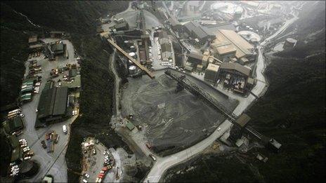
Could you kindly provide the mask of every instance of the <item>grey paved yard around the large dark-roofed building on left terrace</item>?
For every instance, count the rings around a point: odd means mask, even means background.
[[[58,41],[58,39],[46,39],[48,41]],[[39,87],[39,93],[34,93],[31,102],[22,105],[22,114],[25,114],[24,122],[25,128],[23,130],[22,135],[18,138],[25,138],[27,140],[28,146],[32,151],[34,151],[34,156],[32,156],[32,160],[37,161],[39,163],[40,168],[37,175],[28,179],[30,182],[39,182],[46,174],[51,174],[54,176],[56,182],[67,182],[67,165],[65,163],[65,151],[67,149],[67,142],[69,142],[70,136],[70,124],[77,118],[76,116],[72,116],[72,118],[67,119],[66,121],[60,123],[54,123],[46,128],[35,129],[34,124],[37,119],[37,106],[39,103],[39,97],[41,95],[41,91],[43,90],[45,83],[48,79],[50,79],[51,69],[56,67],[63,67],[68,63],[73,64],[77,63],[76,58],[74,58],[74,48],[72,43],[67,40],[63,40],[63,43],[67,45],[67,51],[70,55],[67,60],[63,56],[57,57],[54,61],[48,61],[44,59],[44,55],[41,53],[39,57],[32,57],[30,60],[37,60],[37,64],[41,65],[42,72],[41,75],[41,85]],[[27,76],[29,62],[26,62],[26,73]],[[55,81],[58,79],[62,79],[64,74],[60,74]],[[63,125],[67,125],[67,135],[63,134]],[[41,147],[41,141],[44,140],[46,132],[49,130],[54,130],[60,136],[58,140],[58,144],[55,144],[53,153],[47,153],[46,149]]]

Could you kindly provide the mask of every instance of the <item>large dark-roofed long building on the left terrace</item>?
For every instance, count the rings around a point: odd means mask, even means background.
[[[46,83],[41,93],[37,119],[40,122],[62,121],[67,114],[68,87],[53,87],[53,82]]]

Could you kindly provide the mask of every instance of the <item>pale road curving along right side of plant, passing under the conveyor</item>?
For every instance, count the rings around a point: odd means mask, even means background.
[[[263,76],[263,70],[265,69],[263,55],[261,53],[261,48],[271,39],[278,36],[278,34],[282,33],[289,25],[291,25],[294,21],[296,21],[298,18],[294,16],[291,20],[287,20],[285,22],[285,25],[283,25],[278,32],[275,32],[272,36],[268,37],[265,41],[263,41],[259,46],[259,57],[257,61],[257,67],[256,67],[256,76],[257,79],[260,81],[256,83],[256,86],[252,89],[252,92],[256,95],[261,95],[263,91],[266,88],[266,84],[264,83],[265,76]],[[263,81],[263,82],[261,82]],[[235,108],[233,113],[237,116],[242,114],[244,109],[246,109],[249,104],[251,104],[255,100],[255,97],[252,95],[249,95],[246,100],[240,101],[240,104]],[[215,130],[214,133],[209,135],[205,140],[202,140],[202,142],[199,142],[198,144],[195,144],[193,147],[189,147],[188,149],[185,149],[183,151],[180,151],[176,154],[172,154],[170,156],[165,156],[163,158],[157,157],[157,161],[153,165],[152,169],[148,173],[147,177],[145,178],[145,182],[159,182],[162,175],[164,175],[164,172],[166,172],[169,168],[173,167],[174,165],[177,165],[178,163],[182,163],[184,161],[187,161],[192,156],[195,156],[195,154],[199,154],[202,150],[209,147],[211,143],[213,143],[216,139],[221,137],[223,133],[226,133],[227,130],[230,129],[230,127],[233,126],[230,121],[226,120],[224,121],[219,128],[221,130]]]

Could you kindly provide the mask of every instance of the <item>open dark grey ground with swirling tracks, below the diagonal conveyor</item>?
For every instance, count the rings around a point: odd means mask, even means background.
[[[148,126],[146,137],[157,151],[188,147],[224,120],[200,98],[187,90],[175,93],[175,89],[176,81],[162,74],[152,80],[129,78],[123,91],[122,116],[133,114],[135,125]],[[237,104],[224,96],[223,102],[231,108]]]

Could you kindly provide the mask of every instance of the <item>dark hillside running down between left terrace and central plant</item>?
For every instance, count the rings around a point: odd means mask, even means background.
[[[81,171],[80,144],[84,137],[89,135],[96,136],[107,147],[124,147],[124,149],[129,150],[121,137],[109,127],[112,114],[112,90],[114,87],[114,79],[108,71],[109,55],[107,55],[104,50],[110,53],[111,49],[107,44],[103,44],[102,41],[100,41],[100,37],[96,35],[96,20],[107,14],[112,15],[124,11],[128,6],[128,2],[5,1],[4,5],[9,13],[12,8],[26,15],[34,24],[40,25],[45,31],[56,30],[70,33],[71,41],[77,49],[77,53],[84,58],[81,62],[82,87],[80,116],[72,125],[72,138],[66,154],[67,166],[69,169],[68,180],[69,182],[77,182],[79,176],[72,172]],[[1,12],[2,8],[3,6],[1,3]],[[7,23],[16,22],[15,20],[10,20]],[[17,27],[20,28],[20,32],[25,31],[25,27]],[[1,33],[2,28],[1,26]],[[12,32],[8,34],[14,38]],[[12,40],[8,40],[7,43],[11,43],[11,41]],[[2,43],[1,34],[1,54],[4,51],[2,49]],[[21,41],[17,43],[17,45],[13,45],[11,49],[14,51],[21,50],[22,48],[20,46],[26,43],[27,39],[25,39],[24,42]],[[22,58],[22,60],[26,60],[26,58],[27,57]],[[22,64],[22,62],[20,64]],[[1,68],[2,66],[1,64]],[[17,65],[15,65],[15,63],[8,62],[6,70],[13,71],[8,76],[15,75],[13,81],[21,81],[23,72],[15,72],[16,67]],[[4,82],[10,83],[10,80],[4,79]],[[1,83],[1,88],[2,86],[3,84]],[[20,83],[15,84],[15,88],[19,86]],[[18,95],[18,90],[13,90],[11,95]],[[108,136],[103,134],[108,134]],[[129,152],[131,153],[130,150]]]

